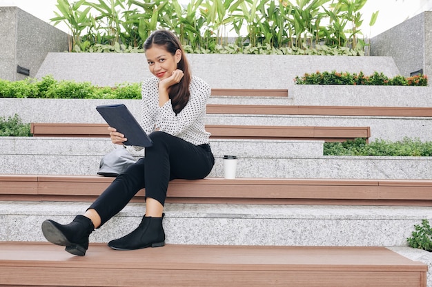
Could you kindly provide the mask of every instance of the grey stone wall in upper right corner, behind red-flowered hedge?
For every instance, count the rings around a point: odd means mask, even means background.
[[[432,74],[432,11],[426,11],[371,39],[371,56],[391,56],[402,76]]]

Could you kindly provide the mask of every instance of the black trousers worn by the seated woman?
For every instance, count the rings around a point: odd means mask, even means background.
[[[124,209],[140,189],[146,189],[146,198],[164,205],[170,180],[205,178],[215,164],[210,145],[193,145],[162,131],[149,136],[153,146],[146,148],[145,157],[117,176],[89,207],[99,213],[101,225]]]

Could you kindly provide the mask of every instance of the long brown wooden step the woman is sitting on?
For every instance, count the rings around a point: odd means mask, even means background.
[[[0,200],[92,201],[113,178],[0,175]],[[432,206],[432,180],[173,180],[166,202]],[[144,201],[145,190],[135,196]]]

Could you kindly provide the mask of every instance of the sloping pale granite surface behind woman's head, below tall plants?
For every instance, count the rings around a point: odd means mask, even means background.
[[[188,60],[193,74],[212,88],[286,89],[293,85],[295,76],[317,71],[373,74],[379,67],[387,76],[399,74],[391,57],[379,56],[188,54]],[[104,72],[95,73],[95,67]],[[59,80],[90,81],[101,86],[138,83],[150,76],[144,54],[115,53],[49,53],[36,77],[48,74]]]

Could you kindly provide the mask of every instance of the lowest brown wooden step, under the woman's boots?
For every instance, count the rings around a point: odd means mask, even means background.
[[[166,245],[84,257],[0,242],[0,286],[426,287],[427,266],[382,247]]]

